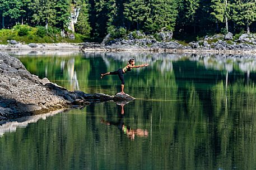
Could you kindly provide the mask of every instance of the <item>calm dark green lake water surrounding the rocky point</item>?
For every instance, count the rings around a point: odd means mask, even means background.
[[[41,79],[110,95],[120,91],[120,80],[100,80],[100,73],[132,57],[150,66],[124,75],[125,93],[136,98],[130,103],[92,103],[0,129],[0,169],[256,169],[254,56],[17,57]]]

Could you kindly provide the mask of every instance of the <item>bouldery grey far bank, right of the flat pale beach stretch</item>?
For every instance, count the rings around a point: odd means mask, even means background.
[[[141,37],[141,38],[135,38]],[[108,39],[108,36],[106,37]],[[243,34],[238,38],[232,33],[226,35],[214,35],[204,37],[203,40],[193,41],[188,44],[181,44],[179,41],[157,41],[152,36],[146,36],[137,32],[137,36],[132,34],[126,38],[114,40],[104,40],[103,43],[83,44],[81,50],[87,51],[151,51],[151,52],[185,52],[185,53],[214,53],[214,54],[255,54],[256,35]]]

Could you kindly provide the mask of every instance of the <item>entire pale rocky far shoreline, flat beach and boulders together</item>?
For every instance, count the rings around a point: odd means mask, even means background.
[[[160,36],[161,35],[161,36]],[[46,54],[47,51],[149,51],[149,52],[185,52],[185,53],[213,53],[213,54],[255,54],[256,34],[242,34],[234,37],[232,33],[226,35],[206,36],[203,40],[189,43],[171,40],[172,34],[162,32],[160,39],[147,36],[136,31],[124,38],[111,38],[107,35],[103,42],[85,43],[29,43],[22,44],[15,40],[7,45],[0,45],[0,51],[30,51],[31,54]],[[22,52],[19,52],[22,53]],[[24,52],[23,52],[24,53]],[[28,52],[25,52],[27,54]]]

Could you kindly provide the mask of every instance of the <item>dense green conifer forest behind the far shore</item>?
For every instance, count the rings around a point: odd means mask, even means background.
[[[0,0],[0,28],[38,27],[102,40],[165,28],[174,38],[255,31],[253,0]],[[42,28],[43,27],[43,28]],[[254,28],[254,29],[253,29]],[[40,35],[39,31],[39,35]],[[52,31],[54,32],[54,31]]]

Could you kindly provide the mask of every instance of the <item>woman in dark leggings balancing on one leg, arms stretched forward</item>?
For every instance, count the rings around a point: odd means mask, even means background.
[[[102,79],[104,76],[106,75],[118,75],[119,79],[121,80],[121,93],[124,93],[124,76],[123,74],[125,74],[126,72],[132,71],[133,68],[141,68],[141,67],[146,67],[148,66],[148,64],[142,64],[142,65],[135,65],[135,60],[134,59],[130,59],[128,62],[128,65],[125,66],[123,69],[118,69],[117,71],[113,71],[113,72],[106,72],[105,74],[101,74],[100,79]]]

